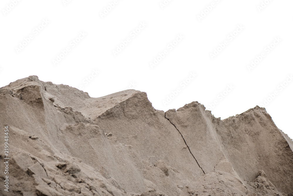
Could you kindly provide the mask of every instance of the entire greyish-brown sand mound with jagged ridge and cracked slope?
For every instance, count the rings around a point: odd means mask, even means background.
[[[293,193],[292,139],[258,106],[224,120],[198,102],[165,113],[144,92],[91,98],[30,76],[0,88],[0,110],[0,195]]]

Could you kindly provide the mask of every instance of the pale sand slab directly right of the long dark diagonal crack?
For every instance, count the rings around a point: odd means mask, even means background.
[[[166,118],[180,131],[203,172],[210,173],[226,157],[219,145],[212,121],[205,116],[204,110],[203,105],[192,102],[177,111],[168,110]]]

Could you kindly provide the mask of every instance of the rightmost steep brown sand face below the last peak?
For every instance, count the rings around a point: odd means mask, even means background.
[[[259,170],[284,192],[293,191],[293,152],[289,139],[264,108],[229,117],[218,126],[226,156],[239,176],[252,181]],[[291,140],[292,143],[292,140]]]

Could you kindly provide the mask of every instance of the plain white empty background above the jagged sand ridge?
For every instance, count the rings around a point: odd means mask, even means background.
[[[293,2],[162,3],[1,0],[0,86],[37,75],[91,97],[131,88],[147,92],[156,109],[198,101],[222,119],[259,105],[293,138],[293,82],[288,78],[293,73]],[[121,45],[125,41],[127,45]],[[114,55],[120,45],[123,49]],[[70,51],[62,55],[67,47]],[[160,58],[164,50],[167,54]],[[212,58],[215,50],[220,52]],[[248,69],[262,53],[258,64]],[[158,63],[151,66],[155,59]],[[197,76],[190,80],[190,73]],[[229,85],[232,90],[226,92]]]

